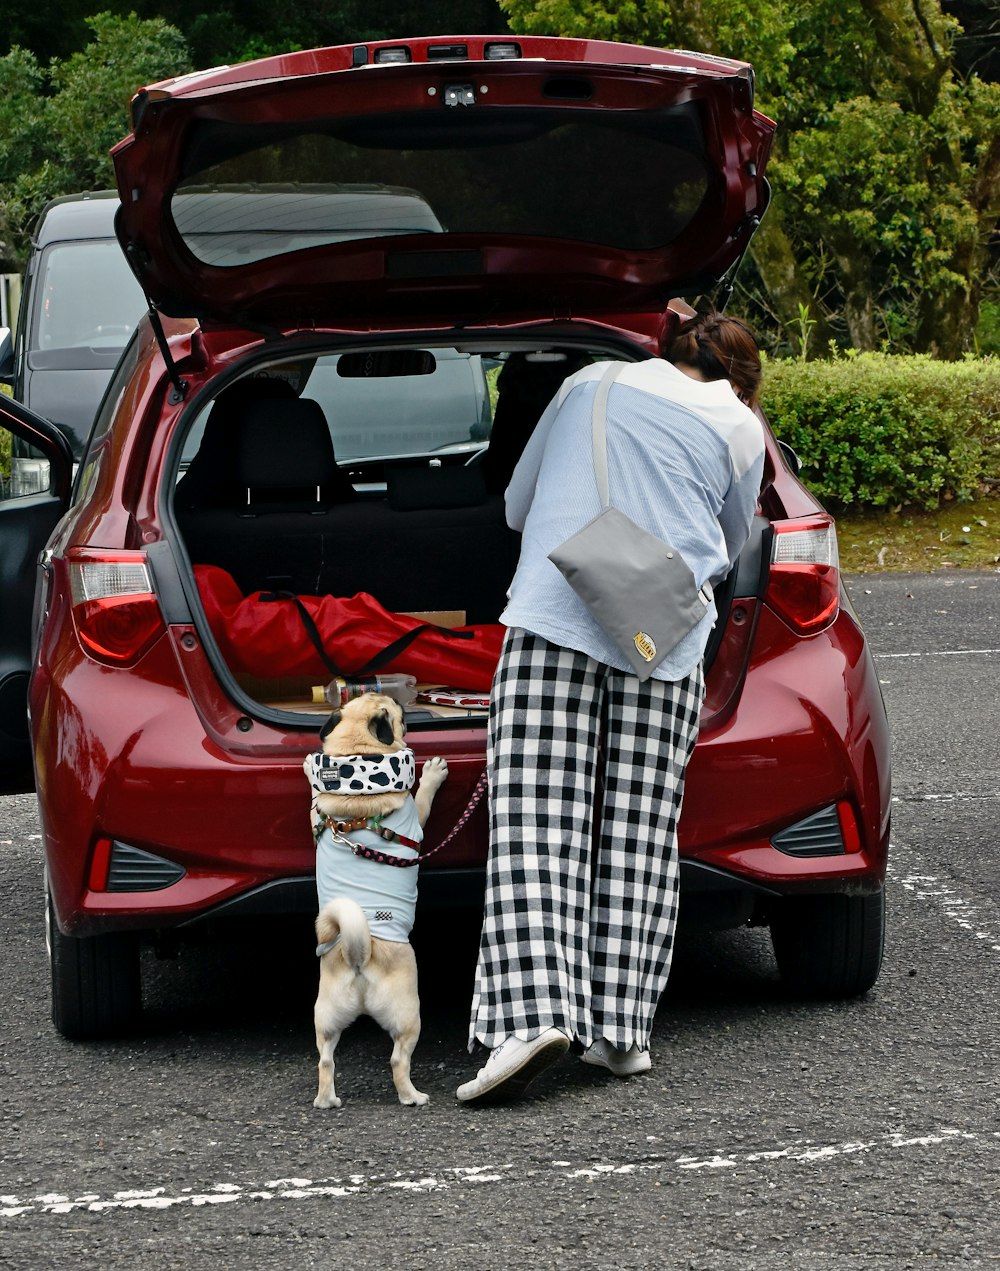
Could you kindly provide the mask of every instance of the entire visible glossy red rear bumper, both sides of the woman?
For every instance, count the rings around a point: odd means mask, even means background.
[[[53,587],[58,595],[58,577]],[[65,928],[86,934],[169,927],[282,881],[296,885],[273,897],[274,907],[311,907],[314,849],[301,761],[316,736],[244,713],[221,689],[192,625],[170,627],[133,674],[93,662],[66,604],[57,600],[52,611],[43,657],[60,675],[36,676],[32,714],[60,721],[58,730],[38,730],[36,760],[53,901]],[[715,666],[723,671],[719,660]],[[884,719],[853,718],[849,703],[877,693],[870,657],[846,613],[802,641],[762,608],[738,703],[724,722],[709,722],[691,761],[682,857],[778,891],[875,886],[884,874],[888,740]],[[428,825],[429,846],[465,811],[483,771],[483,741],[482,726],[412,732],[418,761],[441,754],[451,769]],[[797,859],[771,845],[778,831],[840,799],[867,815],[859,852]],[[93,890],[100,839],[174,862],[184,878],[158,891]],[[485,839],[480,802],[427,872],[482,867]]]

